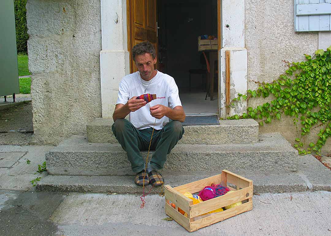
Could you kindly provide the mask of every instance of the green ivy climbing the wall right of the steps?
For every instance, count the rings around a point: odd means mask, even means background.
[[[319,153],[328,137],[331,136],[331,46],[324,52],[317,50],[314,57],[305,54],[307,60],[289,63],[286,74],[279,75],[271,83],[260,83],[257,90],[247,90],[252,98],[263,98],[273,95],[269,103],[263,103],[255,108],[248,107],[247,114],[239,118],[253,118],[262,120],[259,125],[271,123],[272,119],[280,119],[281,114],[293,117],[293,123],[301,130],[301,135],[310,133],[312,127],[321,124],[323,129],[318,134],[316,143],[305,144],[297,138],[296,148],[300,155],[310,151]],[[237,101],[247,100],[247,95],[238,94]],[[241,100],[241,98],[243,100]],[[299,116],[301,123],[299,123]],[[227,119],[237,119],[237,116]],[[299,127],[300,126],[300,127]]]

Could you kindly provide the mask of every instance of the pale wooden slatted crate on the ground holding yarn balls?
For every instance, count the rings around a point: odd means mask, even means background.
[[[222,186],[227,186],[230,188],[230,190],[234,190],[235,192],[230,192],[194,205],[193,200],[183,195],[185,192],[199,192],[205,186],[211,186],[212,184],[221,184]],[[229,185],[235,186],[236,189],[230,187]],[[183,226],[187,231],[193,232],[213,223],[223,221],[240,213],[252,210],[253,181],[236,175],[230,171],[222,170],[222,173],[219,175],[181,185],[175,188],[166,185],[165,197],[166,214],[181,226]],[[239,201],[243,201],[244,203],[242,205],[235,206],[213,215],[207,215],[202,219],[194,221],[194,218],[197,216],[201,216],[210,211],[214,211]],[[175,205],[175,208],[170,205],[171,203]],[[178,208],[186,212],[187,217],[179,213]]]

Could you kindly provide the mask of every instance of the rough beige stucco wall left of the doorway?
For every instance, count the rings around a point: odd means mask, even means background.
[[[100,0],[27,0],[34,143],[101,117]]]

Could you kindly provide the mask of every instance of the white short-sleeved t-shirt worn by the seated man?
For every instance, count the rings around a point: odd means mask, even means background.
[[[155,118],[151,115],[150,107],[161,104],[173,109],[176,106],[182,105],[175,80],[171,76],[159,71],[149,81],[143,80],[140,77],[139,71],[124,76],[119,83],[116,104],[125,105],[130,98],[145,94],[145,89],[146,93],[156,94],[157,99],[134,112],[130,112],[129,121],[138,130],[153,128]],[[154,129],[161,130],[168,122],[169,118],[166,116],[162,119],[156,119]]]

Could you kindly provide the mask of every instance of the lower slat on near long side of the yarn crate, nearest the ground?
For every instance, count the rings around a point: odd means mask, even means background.
[[[240,206],[236,206],[234,208],[230,208],[228,210],[216,213],[214,215],[202,218],[200,220],[197,221],[193,221],[190,223],[190,231],[189,232],[193,232],[196,231],[200,228],[203,228],[205,226],[209,226],[213,223],[219,222],[219,221],[223,221],[225,219],[228,219],[232,216],[236,216],[238,214],[241,214],[243,212],[247,212],[252,210],[253,208],[253,202],[246,202]]]

